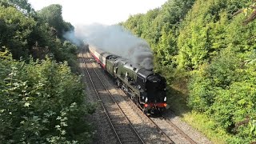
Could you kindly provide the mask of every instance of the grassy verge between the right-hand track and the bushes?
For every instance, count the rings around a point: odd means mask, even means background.
[[[226,134],[225,130],[218,128],[216,122],[208,118],[206,114],[199,114],[186,106],[186,99],[188,97],[186,83],[186,78],[178,78],[169,86],[170,90],[168,90],[167,99],[170,110],[173,110],[175,114],[182,118],[182,121],[187,122],[194,129],[205,134],[211,142],[218,144],[226,143],[226,139],[231,136]]]

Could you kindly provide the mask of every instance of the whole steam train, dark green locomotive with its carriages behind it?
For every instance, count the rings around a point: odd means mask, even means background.
[[[145,114],[166,109],[166,79],[152,70],[134,66],[126,58],[89,46],[90,54]]]

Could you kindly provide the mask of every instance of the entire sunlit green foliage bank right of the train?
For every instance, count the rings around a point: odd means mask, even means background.
[[[186,82],[187,106],[231,134],[230,143],[256,141],[255,5],[169,0],[121,23],[150,43],[155,70],[170,86]]]

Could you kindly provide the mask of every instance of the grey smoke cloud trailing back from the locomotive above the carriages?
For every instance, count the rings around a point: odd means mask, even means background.
[[[130,34],[122,26],[76,26],[75,35],[89,45],[129,59],[147,70],[153,69],[153,54],[142,38]]]

